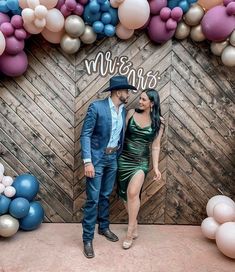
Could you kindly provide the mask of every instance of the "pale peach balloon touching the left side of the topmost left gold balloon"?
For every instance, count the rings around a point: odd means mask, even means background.
[[[52,32],[59,32],[64,27],[64,16],[58,9],[50,9],[46,15],[46,28]]]

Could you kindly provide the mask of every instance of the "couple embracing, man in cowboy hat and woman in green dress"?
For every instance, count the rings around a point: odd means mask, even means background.
[[[152,154],[154,179],[159,180],[160,140],[164,131],[160,99],[154,89],[144,90],[137,109],[126,113],[129,91],[136,88],[125,76],[114,76],[103,92],[110,96],[90,104],[82,132],[81,149],[86,176],[83,245],[87,258],[95,256],[92,241],[98,233],[111,242],[118,237],[109,228],[109,197],[117,180],[118,195],[128,213],[128,229],[122,247],[128,249],[137,238],[140,193]],[[150,152],[151,148],[151,152]]]

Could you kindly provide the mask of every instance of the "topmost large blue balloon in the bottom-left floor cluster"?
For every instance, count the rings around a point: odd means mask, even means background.
[[[37,178],[30,174],[22,174],[16,177],[12,186],[16,189],[16,197],[24,197],[31,201],[37,195],[39,182]]]

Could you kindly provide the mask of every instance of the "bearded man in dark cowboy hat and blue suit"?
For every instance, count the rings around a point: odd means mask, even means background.
[[[83,244],[87,258],[95,256],[92,240],[96,221],[98,233],[109,241],[118,237],[109,229],[109,197],[117,172],[117,157],[122,150],[125,134],[128,89],[136,88],[128,83],[125,76],[114,76],[109,87],[109,98],[97,100],[88,108],[82,132],[81,149],[84,162],[87,200],[84,206]]]

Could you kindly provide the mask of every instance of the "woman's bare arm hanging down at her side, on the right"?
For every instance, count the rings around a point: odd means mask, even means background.
[[[155,180],[161,179],[161,172],[158,169],[158,163],[159,163],[159,155],[160,155],[160,143],[161,143],[161,138],[164,132],[164,119],[161,117],[161,126],[159,133],[157,137],[154,139],[152,143],[152,160],[153,160],[153,169],[155,172]]]

